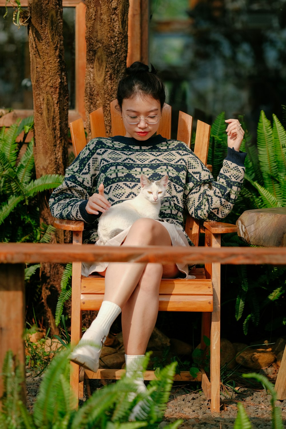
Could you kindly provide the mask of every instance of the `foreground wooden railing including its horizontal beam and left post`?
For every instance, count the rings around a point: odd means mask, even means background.
[[[180,262],[188,264],[271,264],[286,265],[286,248],[249,247],[96,247],[72,244],[0,244],[0,369],[5,353],[12,349],[24,375],[24,268],[25,263],[68,262]],[[24,388],[24,387],[23,387]],[[0,378],[0,397],[2,396]]]

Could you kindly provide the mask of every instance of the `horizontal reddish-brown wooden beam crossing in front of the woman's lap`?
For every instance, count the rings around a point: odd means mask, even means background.
[[[221,264],[286,264],[286,248],[183,246],[95,246],[85,244],[0,243],[0,263],[39,262],[154,262],[221,263]]]

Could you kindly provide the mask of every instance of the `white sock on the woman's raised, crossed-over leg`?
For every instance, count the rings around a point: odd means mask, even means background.
[[[88,330],[95,332],[99,330],[103,335],[107,336],[112,323],[120,313],[121,308],[119,305],[111,301],[102,301],[99,312]]]

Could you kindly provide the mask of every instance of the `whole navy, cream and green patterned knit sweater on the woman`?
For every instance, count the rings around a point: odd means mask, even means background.
[[[98,193],[100,183],[112,205],[138,194],[141,173],[151,180],[168,174],[160,218],[183,229],[186,208],[196,219],[220,221],[238,197],[245,156],[228,148],[214,181],[211,172],[183,142],[160,135],[144,142],[123,136],[92,139],[66,169],[63,184],[51,194],[51,213],[55,218],[84,221],[84,242],[93,243],[100,213],[90,215],[85,207],[88,198]]]

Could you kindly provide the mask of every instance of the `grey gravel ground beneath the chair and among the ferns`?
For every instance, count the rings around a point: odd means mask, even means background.
[[[33,377],[32,374],[28,374],[26,378],[27,407],[30,411],[33,410],[40,382],[41,377]],[[91,390],[102,387],[99,380],[94,380],[92,383],[94,385],[90,386]],[[190,384],[176,382],[172,387],[165,417],[159,428],[164,428],[168,422],[178,419],[184,420],[179,428],[231,428],[237,415],[237,403],[242,402],[254,429],[271,429],[271,396],[260,387],[237,389],[239,393],[233,393],[230,398],[221,395],[221,411],[211,413],[210,401],[205,398],[202,391],[193,391]],[[281,408],[283,424],[286,428],[286,400],[277,401],[275,405]]]

